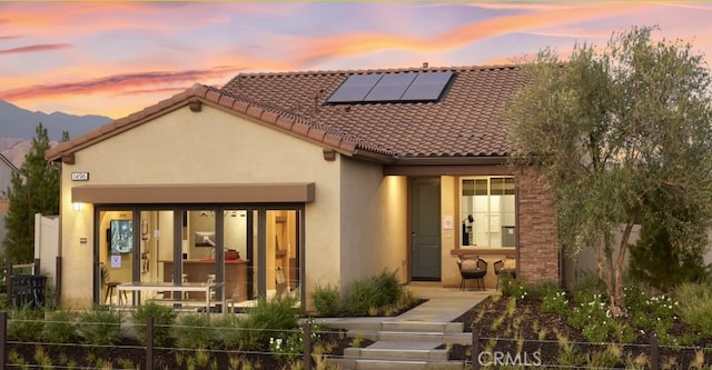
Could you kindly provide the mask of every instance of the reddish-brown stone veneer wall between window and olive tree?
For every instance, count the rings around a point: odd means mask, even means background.
[[[518,189],[518,274],[527,282],[560,281],[556,216],[552,197],[533,169],[516,177]]]

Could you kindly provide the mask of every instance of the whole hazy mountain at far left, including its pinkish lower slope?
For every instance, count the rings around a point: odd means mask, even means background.
[[[32,112],[0,100],[0,153],[20,168],[40,122],[47,129],[52,144],[56,144],[61,140],[62,131],[69,132],[69,138],[73,139],[111,121],[111,118],[103,116]]]

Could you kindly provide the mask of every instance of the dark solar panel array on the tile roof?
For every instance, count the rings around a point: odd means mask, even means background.
[[[452,71],[352,74],[327,103],[437,101]]]

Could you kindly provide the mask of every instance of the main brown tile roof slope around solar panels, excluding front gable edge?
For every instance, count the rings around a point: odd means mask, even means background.
[[[326,104],[354,73],[453,71],[438,102]],[[498,122],[503,103],[521,87],[515,66],[364,71],[245,73],[222,90],[319,122],[373,148],[405,157],[506,156],[506,132]]]

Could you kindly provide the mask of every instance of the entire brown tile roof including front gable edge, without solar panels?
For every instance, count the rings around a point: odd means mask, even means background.
[[[453,71],[437,102],[327,104],[332,92],[354,73]],[[515,66],[359,71],[243,73],[221,89],[195,84],[47,151],[51,160],[200,101],[257,119],[266,126],[349,156],[396,158],[504,157],[506,132],[497,119],[503,103],[522,84]]]

